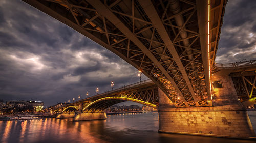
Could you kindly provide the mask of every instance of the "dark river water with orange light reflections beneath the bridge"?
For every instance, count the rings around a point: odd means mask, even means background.
[[[106,120],[37,119],[0,121],[0,142],[255,142],[229,138],[158,133],[158,113],[108,115]]]

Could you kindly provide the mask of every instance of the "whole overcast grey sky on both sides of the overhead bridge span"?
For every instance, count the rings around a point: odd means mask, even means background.
[[[256,59],[255,1],[229,1],[217,63]],[[0,1],[0,99],[46,106],[139,81],[137,70],[52,17],[19,0]],[[142,76],[142,80],[147,79]]]

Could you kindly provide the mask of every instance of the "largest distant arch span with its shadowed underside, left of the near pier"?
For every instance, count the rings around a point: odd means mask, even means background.
[[[83,108],[82,112],[103,112],[106,108],[115,105],[117,103],[125,102],[125,101],[133,101],[140,104],[144,104],[147,106],[151,106],[153,108],[157,108],[157,105],[152,104],[150,102],[129,98],[129,97],[104,97],[94,102],[91,102],[86,107]]]

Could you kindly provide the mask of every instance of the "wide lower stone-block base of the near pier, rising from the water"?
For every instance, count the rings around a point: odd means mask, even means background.
[[[255,136],[244,107],[159,109],[159,132],[248,138]]]

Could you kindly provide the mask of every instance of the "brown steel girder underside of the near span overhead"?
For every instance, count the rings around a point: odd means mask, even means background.
[[[142,70],[176,107],[209,105],[194,1],[182,0],[177,14],[168,11],[169,1],[152,1],[153,16],[137,0],[24,1]],[[182,26],[174,21],[179,15],[185,21]],[[188,33],[185,39],[180,36],[183,31]]]

